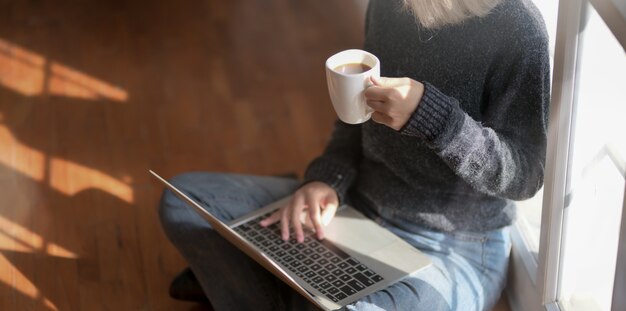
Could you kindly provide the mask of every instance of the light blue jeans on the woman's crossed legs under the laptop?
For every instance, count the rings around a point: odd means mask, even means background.
[[[288,178],[214,173],[187,173],[171,182],[223,221],[289,195],[300,185]],[[159,215],[165,233],[189,263],[215,310],[316,309],[221,238],[169,190],[163,192]],[[391,225],[373,218],[430,256],[433,265],[346,310],[490,310],[497,302],[511,248],[508,228],[444,233],[402,220],[393,220]]]

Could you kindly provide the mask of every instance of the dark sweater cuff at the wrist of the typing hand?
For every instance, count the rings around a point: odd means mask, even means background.
[[[321,181],[335,189],[339,204],[345,202],[345,196],[356,177],[356,171],[334,161],[317,158],[306,170],[303,184]]]

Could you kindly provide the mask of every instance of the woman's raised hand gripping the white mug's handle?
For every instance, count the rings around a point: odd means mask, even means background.
[[[399,131],[409,121],[424,95],[424,85],[410,78],[375,78],[365,90],[367,105],[374,109],[372,120]]]

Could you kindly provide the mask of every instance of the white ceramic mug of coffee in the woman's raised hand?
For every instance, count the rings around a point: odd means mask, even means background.
[[[360,73],[341,73],[337,67],[345,64],[364,64],[371,67]],[[371,85],[370,77],[380,77],[380,61],[363,50],[341,51],[326,60],[328,93],[339,119],[358,124],[370,119],[374,110],[365,103],[363,91]]]

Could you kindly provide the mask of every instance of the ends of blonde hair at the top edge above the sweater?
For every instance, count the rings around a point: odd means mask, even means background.
[[[458,24],[468,18],[485,16],[501,0],[404,0],[418,24],[425,28],[439,28]]]

